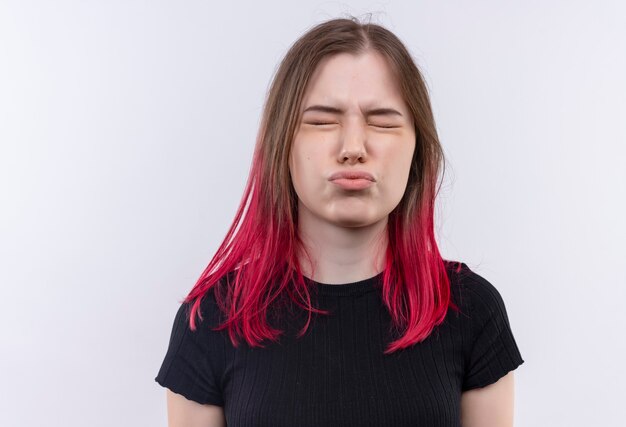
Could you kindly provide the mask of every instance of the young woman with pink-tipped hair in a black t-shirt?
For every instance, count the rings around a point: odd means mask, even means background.
[[[174,321],[155,379],[169,425],[512,426],[523,360],[498,291],[439,253],[442,162],[395,35],[335,19],[297,40]]]

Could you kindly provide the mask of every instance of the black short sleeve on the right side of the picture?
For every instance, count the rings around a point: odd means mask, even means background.
[[[502,296],[486,279],[471,272],[469,295],[472,340],[462,390],[485,387],[524,363],[513,337]]]

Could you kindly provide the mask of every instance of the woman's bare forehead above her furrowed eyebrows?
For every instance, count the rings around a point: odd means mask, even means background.
[[[397,107],[404,104],[393,69],[376,51],[358,55],[339,53],[324,58],[311,75],[303,109],[311,102],[393,102]]]

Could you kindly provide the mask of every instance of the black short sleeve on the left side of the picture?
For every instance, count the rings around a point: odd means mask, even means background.
[[[196,316],[196,330],[191,330],[191,306],[191,302],[180,305],[165,359],[154,380],[189,400],[224,406],[221,390],[224,348],[219,334],[209,329],[207,317],[210,316],[204,307],[201,308],[203,320]]]

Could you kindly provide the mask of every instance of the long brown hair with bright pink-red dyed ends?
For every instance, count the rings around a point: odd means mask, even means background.
[[[328,314],[311,305],[298,254],[308,252],[297,233],[297,195],[289,174],[291,144],[307,82],[319,62],[339,53],[381,53],[395,73],[416,133],[405,193],[389,214],[388,245],[382,275],[382,300],[399,338],[385,354],[427,338],[443,322],[451,302],[446,263],[434,235],[437,178],[444,160],[422,75],[402,42],[389,30],[356,18],[333,19],[314,26],[289,49],[275,72],[261,116],[250,174],[235,219],[184,302],[193,302],[190,327],[205,294],[213,289],[225,315],[214,330],[228,329],[238,346],[251,347],[284,332],[268,323],[272,308],[287,296],[311,314]],[[310,257],[309,257],[310,259]],[[458,263],[460,268],[460,263]]]

